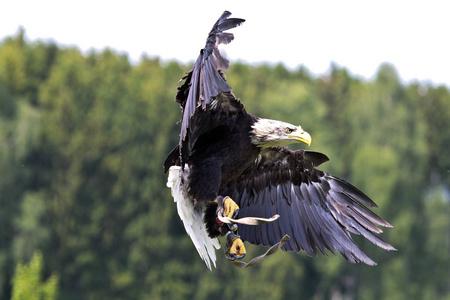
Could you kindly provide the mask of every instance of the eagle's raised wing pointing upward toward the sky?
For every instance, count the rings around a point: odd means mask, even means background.
[[[198,111],[206,111],[207,107],[217,107],[220,102],[227,102],[221,106],[240,107],[242,104],[231,93],[231,87],[225,80],[222,70],[227,70],[228,60],[219,51],[219,44],[228,44],[234,39],[234,35],[225,32],[231,28],[241,25],[245,20],[229,18],[230,12],[225,11],[214,24],[206,40],[206,46],[200,51],[191,71],[183,78],[185,83],[178,88],[175,100],[183,108],[183,119],[181,121],[179,151],[182,160],[189,155],[195,144],[196,137],[200,136],[207,128],[195,126],[199,122],[196,118]],[[217,100],[215,103],[212,103]],[[207,118],[203,118],[207,119]],[[202,127],[207,127],[203,126]],[[195,132],[199,130],[198,132]]]

